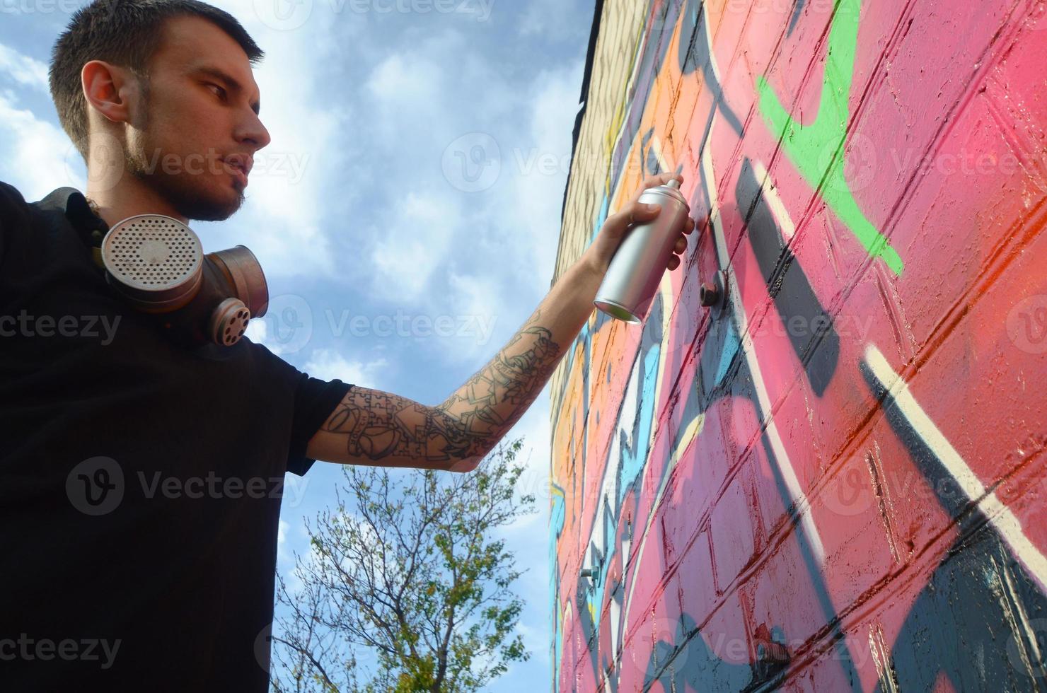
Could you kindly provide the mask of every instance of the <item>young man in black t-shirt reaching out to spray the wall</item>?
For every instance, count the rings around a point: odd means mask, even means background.
[[[261,57],[195,0],[94,2],[54,47],[52,96],[89,183],[31,204],[0,183],[4,690],[264,691],[285,472],[472,470],[588,318],[629,224],[658,214],[638,192],[437,406],[311,378],[249,339],[179,346],[106,283],[92,239],[135,215],[240,207],[269,143]]]

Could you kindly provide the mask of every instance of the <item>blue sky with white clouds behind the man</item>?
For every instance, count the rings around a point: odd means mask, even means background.
[[[73,0],[0,2],[0,180],[38,200],[84,189],[47,89]],[[593,0],[232,0],[266,51],[254,76],[272,142],[247,202],[193,224],[205,250],[258,255],[269,313],[249,334],[319,378],[437,404],[548,292]],[[549,393],[524,435],[540,512],[506,536],[530,662],[492,691],[550,683]],[[317,463],[284,499],[279,569],[303,517],[333,505]]]

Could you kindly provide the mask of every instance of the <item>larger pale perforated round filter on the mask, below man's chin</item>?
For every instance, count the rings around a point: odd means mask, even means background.
[[[185,224],[162,215],[129,217],[102,241],[102,261],[116,288],[141,310],[184,306],[200,286],[203,250]]]

